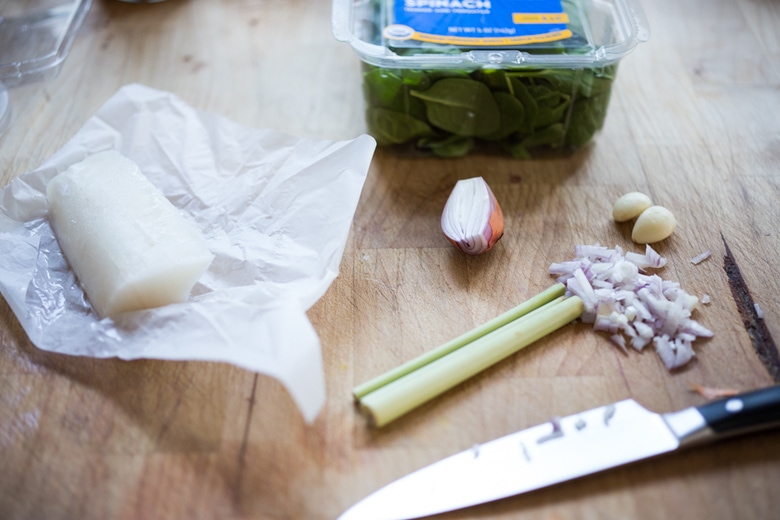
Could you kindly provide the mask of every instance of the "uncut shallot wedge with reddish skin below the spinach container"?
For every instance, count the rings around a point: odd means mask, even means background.
[[[504,215],[482,177],[458,181],[441,214],[447,239],[469,255],[489,251],[504,234]]]

